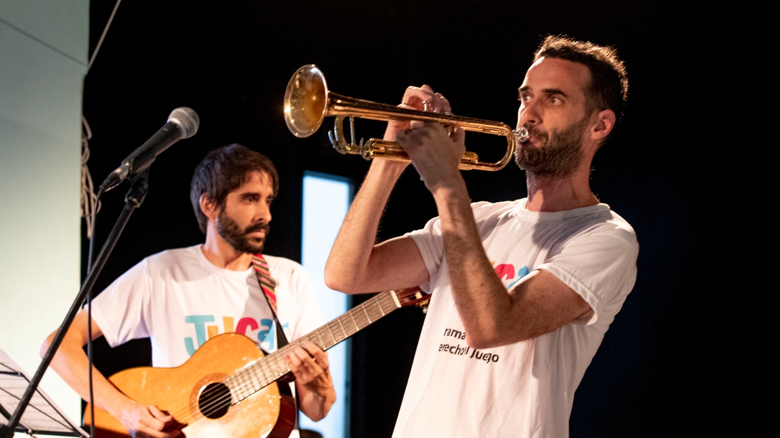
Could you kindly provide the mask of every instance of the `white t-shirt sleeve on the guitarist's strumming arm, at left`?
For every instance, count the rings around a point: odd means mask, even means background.
[[[149,337],[143,312],[150,291],[147,270],[147,260],[142,260],[92,300],[92,319],[112,347]]]

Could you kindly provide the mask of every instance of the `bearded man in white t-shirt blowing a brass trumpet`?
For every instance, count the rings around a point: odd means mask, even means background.
[[[389,122],[434,197],[424,228],[374,244],[407,162],[376,158],[325,268],[349,294],[431,292],[395,437],[569,435],[574,392],[636,281],[633,228],[590,190],[628,81],[612,48],[547,37],[519,87],[527,197],[472,203],[463,130]],[[450,111],[427,85],[402,108]],[[497,275],[498,274],[498,275]]]

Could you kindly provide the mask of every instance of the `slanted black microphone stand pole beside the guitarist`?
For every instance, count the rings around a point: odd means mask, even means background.
[[[27,387],[27,390],[25,390],[22,398],[19,401],[19,404],[16,406],[16,411],[13,413],[13,415],[11,415],[11,418],[9,419],[9,422],[6,426],[0,426],[0,438],[13,437],[16,426],[19,424],[22,418],[22,414],[27,408],[27,405],[30,404],[30,400],[32,399],[33,394],[37,389],[38,383],[41,383],[41,379],[43,378],[46,369],[51,363],[51,359],[54,358],[55,352],[57,351],[57,348],[59,348],[59,344],[62,343],[62,339],[65,337],[66,331],[68,331],[70,324],[73,323],[73,319],[76,317],[76,313],[79,313],[81,306],[83,306],[84,300],[92,291],[94,283],[97,280],[97,276],[100,275],[101,270],[103,270],[105,262],[108,260],[108,256],[111,254],[114,246],[116,245],[116,242],[119,240],[119,235],[122,234],[122,230],[124,230],[125,225],[129,221],[130,214],[133,214],[133,210],[140,207],[141,203],[144,203],[144,198],[146,198],[147,192],[149,190],[148,175],[149,169],[147,168],[133,178],[130,178],[133,185],[125,195],[125,208],[122,210],[122,213],[119,214],[111,234],[108,235],[108,238],[106,238],[106,241],[103,244],[101,252],[97,254],[97,259],[95,260],[92,269],[87,273],[87,278],[84,280],[81,286],[79,295],[76,297],[76,300],[70,307],[65,320],[62,321],[62,325],[58,328],[57,334],[55,334],[54,339],[51,341],[51,345],[49,345],[49,348],[46,351],[43,360],[41,361],[41,365],[38,366],[37,371],[30,380],[30,385]],[[95,236],[93,235],[93,238],[94,237]]]

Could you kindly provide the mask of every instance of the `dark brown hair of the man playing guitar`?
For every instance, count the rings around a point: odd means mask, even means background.
[[[208,222],[206,215],[200,210],[200,196],[205,194],[214,200],[220,209],[225,208],[228,193],[243,185],[253,171],[261,171],[271,177],[276,196],[279,190],[279,175],[271,160],[257,151],[239,143],[232,143],[212,150],[200,161],[190,183],[190,201],[200,231],[206,234]]]

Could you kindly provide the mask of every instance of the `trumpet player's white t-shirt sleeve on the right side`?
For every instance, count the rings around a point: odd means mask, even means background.
[[[632,231],[602,224],[577,235],[536,269],[566,283],[593,309],[580,323],[611,319],[636,282],[639,245]]]

